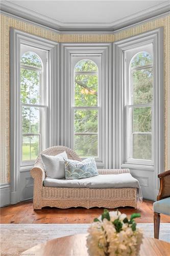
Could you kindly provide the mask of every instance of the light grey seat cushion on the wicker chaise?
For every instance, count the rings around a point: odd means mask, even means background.
[[[87,188],[139,188],[139,182],[130,173],[116,175],[98,175],[95,177],[75,180],[45,178],[46,187],[87,187]]]

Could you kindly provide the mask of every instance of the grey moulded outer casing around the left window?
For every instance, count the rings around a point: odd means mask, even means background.
[[[17,29],[10,28],[10,203],[20,201],[20,176],[30,177],[33,162],[21,165],[21,112],[20,112],[20,45],[27,45],[35,49],[48,51],[48,94],[46,96],[48,111],[45,118],[44,147],[57,144],[58,134],[56,126],[59,120],[56,109],[59,102],[59,47],[58,43],[39,36],[35,36]],[[30,179],[30,178],[29,178]]]

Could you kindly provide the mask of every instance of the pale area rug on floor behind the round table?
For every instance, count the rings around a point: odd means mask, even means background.
[[[37,244],[72,234],[86,233],[90,224],[1,224],[0,255],[19,255]],[[153,223],[137,224],[145,237],[154,237]],[[160,224],[160,240],[170,242],[170,223]]]

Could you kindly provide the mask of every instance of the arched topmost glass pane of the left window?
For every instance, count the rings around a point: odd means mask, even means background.
[[[41,68],[40,58],[33,52],[26,52],[21,57],[21,64]]]

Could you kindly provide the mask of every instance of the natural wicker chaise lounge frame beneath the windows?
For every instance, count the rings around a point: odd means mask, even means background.
[[[81,161],[78,155],[65,146],[54,146],[47,148],[42,153],[55,156],[66,151],[69,159]],[[117,175],[130,173],[129,169],[98,169],[100,175]],[[119,206],[137,207],[137,188],[89,188],[89,187],[50,187],[44,186],[45,179],[44,165],[41,156],[36,159],[31,169],[31,176],[34,178],[34,209],[41,209],[44,206],[69,208],[82,206],[116,208]]]

